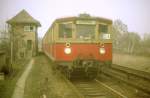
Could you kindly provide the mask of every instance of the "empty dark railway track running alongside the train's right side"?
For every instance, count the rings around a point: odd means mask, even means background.
[[[111,77],[111,80],[117,80],[133,87],[139,95],[138,98],[150,98],[150,73],[142,72],[127,67],[113,64],[112,66],[102,66],[99,78],[102,76]]]

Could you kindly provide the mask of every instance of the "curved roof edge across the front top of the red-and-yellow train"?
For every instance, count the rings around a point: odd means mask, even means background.
[[[73,21],[73,20],[96,20],[96,21],[101,21],[101,22],[112,24],[111,19],[107,19],[103,17],[93,17],[93,16],[90,16],[89,14],[80,14],[78,17],[73,16],[73,17],[58,18],[55,20],[55,22]]]

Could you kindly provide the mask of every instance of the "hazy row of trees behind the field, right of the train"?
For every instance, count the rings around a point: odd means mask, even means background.
[[[150,56],[150,33],[141,37],[137,32],[129,32],[121,20],[115,20],[112,34],[114,52]]]

